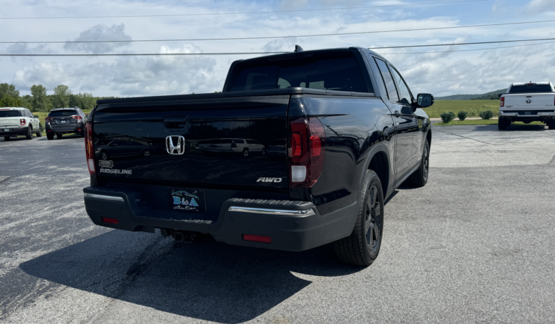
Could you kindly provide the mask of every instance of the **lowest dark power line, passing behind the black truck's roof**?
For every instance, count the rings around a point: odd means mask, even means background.
[[[533,40],[494,40],[490,42],[465,42],[465,43],[451,43],[451,44],[425,44],[425,45],[407,45],[407,46],[392,46],[392,47],[370,47],[369,49],[401,49],[410,47],[437,47],[437,46],[456,46],[456,45],[475,45],[475,44],[499,44],[507,42],[538,42],[540,40],[555,40],[555,38],[538,38]],[[547,43],[538,43],[547,44]],[[533,45],[533,44],[531,44]],[[526,46],[526,45],[518,45]],[[493,48],[506,48],[506,47],[493,47]],[[492,49],[493,49],[492,48]],[[474,50],[474,49],[473,49]],[[480,49],[476,49],[480,50]],[[469,49],[460,51],[470,51]],[[426,53],[447,53],[449,51],[437,52],[415,52],[410,54],[426,54]],[[256,52],[240,52],[240,53],[124,53],[124,54],[0,54],[0,56],[198,56],[198,55],[248,55],[248,54],[284,54],[291,53],[289,51],[256,51]],[[405,54],[405,53],[388,53],[388,54]],[[406,53],[409,54],[409,53]]]

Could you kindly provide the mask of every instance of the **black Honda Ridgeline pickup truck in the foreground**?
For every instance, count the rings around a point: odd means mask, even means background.
[[[86,127],[86,211],[177,241],[333,242],[339,259],[369,266],[385,199],[428,180],[421,108],[433,101],[359,47],[238,60],[222,93],[101,99]]]

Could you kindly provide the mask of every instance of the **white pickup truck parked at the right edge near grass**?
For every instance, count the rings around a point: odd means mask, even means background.
[[[511,122],[544,122],[555,129],[555,88],[551,82],[513,83],[501,95],[499,129]]]

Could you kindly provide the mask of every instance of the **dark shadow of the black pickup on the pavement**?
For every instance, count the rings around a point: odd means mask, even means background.
[[[363,269],[336,261],[330,245],[293,253],[211,239],[178,244],[120,231],[50,252],[20,268],[74,289],[218,323],[250,321],[312,283],[293,273],[334,277]],[[107,314],[118,311],[118,304],[113,307],[105,309]]]

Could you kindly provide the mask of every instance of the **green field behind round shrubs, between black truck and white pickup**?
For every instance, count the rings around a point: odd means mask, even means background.
[[[499,100],[436,100],[433,106],[424,108],[424,111],[430,118],[440,118],[442,113],[449,111],[455,115],[459,111],[466,111],[467,117],[480,117],[478,113],[481,111],[492,111],[493,115],[497,116],[499,115]]]

